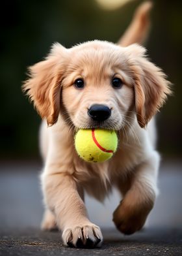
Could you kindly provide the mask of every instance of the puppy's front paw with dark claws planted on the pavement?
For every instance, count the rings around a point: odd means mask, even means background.
[[[62,232],[64,245],[76,248],[95,248],[101,246],[103,236],[96,225],[85,225],[65,229]]]

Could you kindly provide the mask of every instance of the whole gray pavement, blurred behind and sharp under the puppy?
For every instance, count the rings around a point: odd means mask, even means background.
[[[160,195],[143,231],[123,236],[112,224],[120,197],[104,204],[86,197],[90,219],[101,226],[100,249],[62,246],[59,232],[39,229],[43,213],[38,163],[0,163],[0,255],[182,255],[182,162],[164,161]]]

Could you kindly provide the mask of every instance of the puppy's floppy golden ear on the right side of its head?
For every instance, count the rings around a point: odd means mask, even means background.
[[[127,50],[134,78],[136,117],[140,127],[145,127],[172,93],[170,82],[164,72],[146,58],[142,46],[133,44]]]

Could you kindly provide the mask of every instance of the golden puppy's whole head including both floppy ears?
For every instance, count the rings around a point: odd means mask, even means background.
[[[62,114],[76,128],[120,130],[135,113],[144,127],[170,93],[164,73],[144,52],[136,44],[55,44],[45,61],[31,67],[23,89],[49,125]]]

